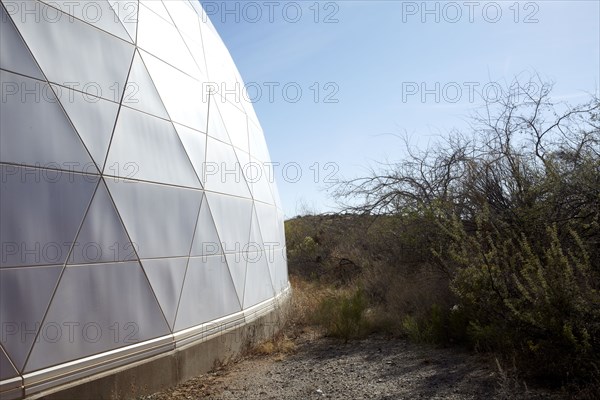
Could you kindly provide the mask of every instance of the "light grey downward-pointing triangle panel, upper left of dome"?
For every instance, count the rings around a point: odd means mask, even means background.
[[[61,86],[52,87],[83,143],[102,169],[119,104]]]

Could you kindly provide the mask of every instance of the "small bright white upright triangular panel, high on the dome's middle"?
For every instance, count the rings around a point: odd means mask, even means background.
[[[133,57],[131,72],[127,80],[123,105],[160,118],[169,118],[156,87],[154,87],[154,82],[137,51]]]

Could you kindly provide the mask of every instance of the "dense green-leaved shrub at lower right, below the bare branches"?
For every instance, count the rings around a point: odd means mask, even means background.
[[[457,264],[452,289],[467,310],[468,335],[485,350],[507,350],[545,377],[598,377],[600,280],[573,230],[557,226],[536,238],[485,229],[467,235],[455,219],[449,254]],[[570,240],[569,240],[570,239]]]

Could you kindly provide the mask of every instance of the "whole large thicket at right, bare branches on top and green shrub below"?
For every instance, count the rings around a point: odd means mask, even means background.
[[[361,277],[407,336],[466,340],[585,386],[600,379],[600,99],[572,107],[540,80],[509,87],[472,131],[407,141],[403,159],[336,195],[375,218],[376,272]]]

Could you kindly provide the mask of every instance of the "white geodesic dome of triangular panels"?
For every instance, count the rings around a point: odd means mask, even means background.
[[[252,105],[200,4],[0,7],[0,393],[200,340],[288,288]]]

